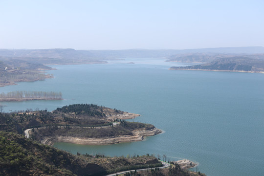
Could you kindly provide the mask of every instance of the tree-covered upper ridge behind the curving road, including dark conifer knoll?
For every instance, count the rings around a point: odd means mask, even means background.
[[[67,109],[68,107],[69,110]],[[75,109],[76,108],[76,109]],[[83,109],[84,108],[84,109]],[[75,113],[76,110],[76,113]],[[64,111],[64,112],[63,112]],[[102,127],[112,125],[105,113],[122,114],[123,111],[97,106],[94,104],[76,104],[47,110],[26,110],[10,113],[0,112],[0,131],[22,133],[23,129],[55,126]]]

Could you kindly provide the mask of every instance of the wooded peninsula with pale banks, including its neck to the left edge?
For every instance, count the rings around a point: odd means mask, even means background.
[[[49,145],[59,141],[93,145],[132,142],[161,132],[151,124],[124,120],[136,116],[139,114],[94,104],[74,104],[52,112],[26,111],[13,113],[12,116],[5,113],[1,128],[13,129],[14,132],[14,128],[10,128],[13,124],[19,133],[31,129],[26,132],[30,138]]]

